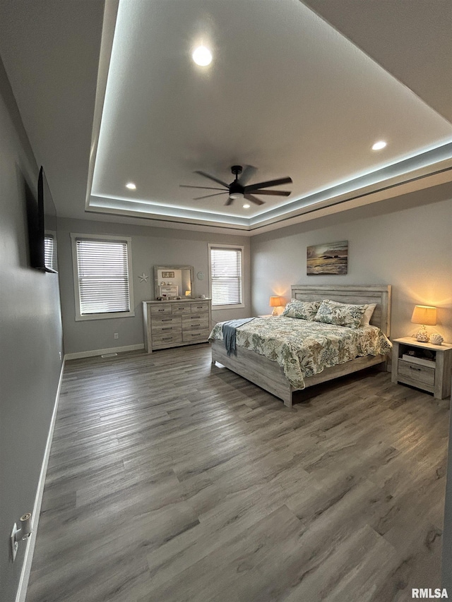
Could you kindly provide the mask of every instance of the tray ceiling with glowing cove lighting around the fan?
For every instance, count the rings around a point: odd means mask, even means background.
[[[252,234],[451,181],[451,6],[1,0],[0,54],[59,215]],[[244,209],[179,187],[232,164],[292,194]]]

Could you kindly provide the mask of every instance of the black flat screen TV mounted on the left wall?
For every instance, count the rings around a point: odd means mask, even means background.
[[[57,211],[44,169],[37,180],[37,215],[30,229],[30,263],[44,272],[57,272]]]

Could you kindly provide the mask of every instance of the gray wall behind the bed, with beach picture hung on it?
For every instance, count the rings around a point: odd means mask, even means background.
[[[254,314],[291,284],[392,284],[391,337],[417,329],[415,305],[438,308],[437,330],[452,342],[452,185],[314,219],[251,239]],[[348,273],[307,276],[307,246],[348,241]]]

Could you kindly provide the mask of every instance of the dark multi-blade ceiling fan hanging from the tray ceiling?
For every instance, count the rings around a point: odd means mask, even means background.
[[[251,179],[251,176],[256,172],[256,167],[246,167],[243,171],[242,165],[232,165],[231,167],[232,174],[234,174],[235,179],[230,184],[215,178],[215,176],[210,176],[206,174],[204,171],[194,171],[195,174],[199,174],[200,176],[204,176],[209,180],[213,180],[214,182],[221,184],[223,188],[213,188],[212,186],[188,186],[186,184],[179,184],[182,188],[203,188],[204,190],[212,190],[212,191],[221,191],[218,193],[208,194],[205,196],[198,196],[194,198],[194,200],[199,200],[201,198],[209,198],[211,196],[217,196],[220,194],[229,195],[225,205],[231,205],[234,203],[234,200],[240,198],[246,198],[246,200],[251,200],[251,203],[255,203],[256,205],[263,205],[263,200],[260,198],[256,198],[254,195],[258,194],[268,194],[274,196],[289,196],[291,193],[289,191],[268,191],[262,190],[262,188],[268,188],[269,186],[278,186],[279,184],[287,184],[292,183],[292,178],[280,178],[279,180],[269,180],[268,182],[259,182],[257,184],[249,184],[246,186],[246,182]],[[243,174],[242,174],[243,171]],[[239,175],[242,176],[239,178]],[[253,194],[250,194],[253,193]]]

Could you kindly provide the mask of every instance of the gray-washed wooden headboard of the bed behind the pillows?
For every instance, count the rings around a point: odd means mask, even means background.
[[[353,284],[292,284],[292,299],[298,301],[339,301],[340,303],[376,303],[370,320],[388,337],[391,332],[391,284],[354,286]]]

